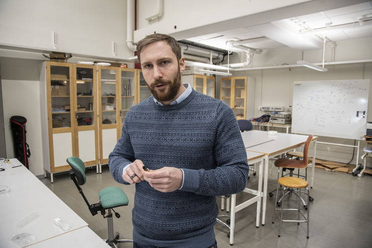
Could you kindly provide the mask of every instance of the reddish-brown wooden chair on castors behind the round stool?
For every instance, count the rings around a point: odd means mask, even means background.
[[[309,137],[307,138],[306,142],[305,142],[305,146],[304,146],[304,152],[303,152],[303,159],[302,160],[299,160],[299,159],[289,159],[289,158],[278,158],[276,159],[276,161],[274,162],[274,166],[279,168],[280,171],[278,172],[278,179],[279,179],[279,176],[281,175],[282,173],[282,177],[284,176],[287,176],[289,175],[290,177],[293,177],[293,171],[295,169],[298,169],[298,174],[296,176],[299,177],[303,177],[305,180],[307,180],[307,166],[308,166],[308,153],[309,153],[309,147],[310,147],[310,143],[311,143],[311,140],[313,139],[314,135],[309,135]],[[291,153],[290,153],[291,154]],[[297,154],[297,155],[301,155],[301,154],[298,154],[298,152],[293,152],[292,154]],[[287,174],[287,175],[283,175],[283,170],[285,169],[289,169],[290,170],[290,173]],[[302,176],[300,175],[300,169],[305,169],[305,176]],[[288,187],[287,187],[288,188]],[[278,188],[276,189],[276,191],[278,190]],[[275,190],[274,190],[275,191]],[[274,191],[271,191],[269,193],[269,196],[272,197],[273,196],[273,192]],[[298,194],[297,194],[297,190],[293,190],[293,189],[290,189],[288,192],[285,192],[285,194],[290,194],[290,193],[294,193],[296,194],[300,200],[302,201],[303,205],[304,205],[304,208],[307,209],[308,208],[308,204],[305,203],[304,199],[302,199]],[[276,195],[277,195],[277,192],[276,192]],[[275,199],[275,204],[280,207],[281,206],[281,202],[283,200],[283,197],[280,198],[278,201],[276,201],[277,199]],[[309,200],[312,202],[314,201],[314,198],[312,198],[311,196],[309,196]]]

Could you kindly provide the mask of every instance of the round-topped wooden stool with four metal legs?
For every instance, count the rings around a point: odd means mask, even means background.
[[[281,216],[280,216],[280,221],[281,222],[279,224],[279,234],[278,234],[278,237],[281,236],[282,222],[297,222],[297,224],[300,224],[300,222],[307,222],[307,238],[309,238],[309,211],[310,211],[310,209],[309,209],[309,189],[308,189],[309,183],[306,182],[305,180],[301,179],[301,178],[294,178],[294,177],[282,177],[282,178],[278,179],[278,181],[277,181],[277,188],[276,188],[275,202],[277,200],[277,190],[279,188],[279,184],[284,186],[283,197],[282,197],[282,200],[283,200],[283,202],[282,202],[282,208],[276,208],[276,205],[274,204],[274,212],[272,214],[272,223],[274,223],[274,216],[277,215],[276,210],[281,210]],[[286,192],[286,189],[287,188],[297,188],[297,189],[299,189],[299,206],[298,206],[298,209],[294,209],[294,208],[283,208],[283,206],[284,206],[284,196],[285,196],[285,192]],[[307,197],[308,198],[308,201],[307,201],[307,206],[308,206],[307,217],[300,210],[301,189],[302,188],[305,188],[307,190],[307,196],[308,196]],[[297,220],[283,219],[283,211],[284,210],[298,211]],[[305,220],[300,220],[300,214],[305,218]]]

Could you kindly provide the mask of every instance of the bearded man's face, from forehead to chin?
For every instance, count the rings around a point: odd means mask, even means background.
[[[146,84],[160,102],[172,102],[178,97],[184,59],[177,60],[165,41],[149,44],[141,51],[142,73]]]

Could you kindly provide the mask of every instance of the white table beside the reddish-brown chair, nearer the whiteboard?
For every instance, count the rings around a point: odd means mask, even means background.
[[[266,136],[266,137],[265,137]],[[290,133],[277,133],[276,135],[268,135],[266,131],[251,130],[242,133],[244,144],[256,142],[258,145],[250,146],[248,151],[254,151],[264,154],[264,180],[263,180],[263,201],[262,201],[262,225],[265,224],[266,214],[266,197],[267,197],[267,178],[268,178],[268,161],[270,158],[286,153],[303,145],[308,135],[290,134]],[[313,148],[313,165],[310,186],[313,187],[314,182],[314,169],[315,169],[315,150],[316,139],[314,137],[312,142]],[[266,141],[262,143],[262,140]]]

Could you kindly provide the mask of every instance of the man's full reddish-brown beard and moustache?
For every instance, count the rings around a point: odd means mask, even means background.
[[[181,73],[179,72],[179,66],[177,74],[174,75],[173,79],[171,81],[164,81],[162,79],[156,79],[154,84],[152,86],[148,86],[151,94],[154,96],[154,98],[160,102],[167,102],[172,100],[178,93],[179,87],[181,87]],[[169,89],[165,91],[158,91],[155,90],[155,86],[157,85],[169,85]]]

